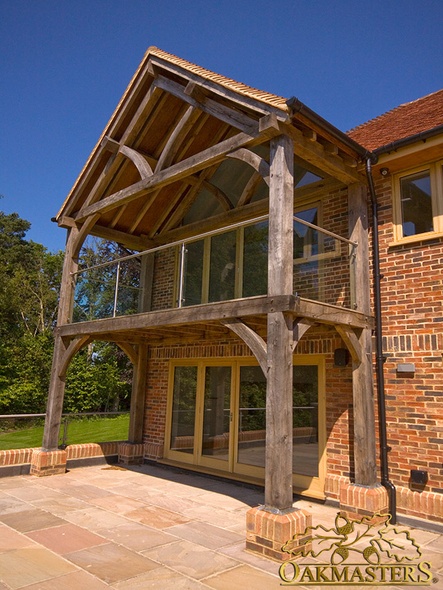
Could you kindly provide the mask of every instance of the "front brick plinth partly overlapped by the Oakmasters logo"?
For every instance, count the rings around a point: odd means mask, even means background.
[[[246,549],[277,561],[294,559],[294,555],[282,551],[282,546],[294,535],[303,534],[312,525],[312,516],[305,510],[291,510],[274,514],[263,506],[251,508],[246,513]],[[292,553],[297,546],[306,547],[311,533],[300,536],[297,545],[291,545]]]

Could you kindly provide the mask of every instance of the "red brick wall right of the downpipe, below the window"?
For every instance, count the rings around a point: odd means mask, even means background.
[[[391,478],[412,491],[443,491],[443,240],[393,246],[391,179],[380,205],[383,348]],[[415,372],[400,373],[399,364]],[[428,472],[427,485],[410,470]]]

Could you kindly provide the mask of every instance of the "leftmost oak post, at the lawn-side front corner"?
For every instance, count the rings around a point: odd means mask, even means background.
[[[66,240],[66,252],[63,262],[62,282],[60,286],[60,300],[57,315],[57,326],[67,324],[72,320],[74,305],[74,279],[72,273],[78,268],[74,258],[78,252],[78,229],[69,230]],[[65,375],[60,375],[63,366],[63,357],[67,345],[56,332],[54,340],[54,354],[52,357],[51,380],[49,384],[48,402],[46,406],[45,428],[43,432],[42,448],[44,451],[53,451],[58,448],[58,436],[63,412],[63,398],[65,394]]]

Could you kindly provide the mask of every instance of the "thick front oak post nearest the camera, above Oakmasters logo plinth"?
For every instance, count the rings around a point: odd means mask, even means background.
[[[271,140],[268,295],[293,291],[294,147],[287,136]],[[268,313],[265,507],[292,508],[292,320]]]

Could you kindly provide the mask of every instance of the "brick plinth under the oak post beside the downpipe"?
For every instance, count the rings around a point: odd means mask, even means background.
[[[389,499],[386,489],[348,484],[340,489],[340,512],[348,518],[361,518],[374,514],[386,514]]]

